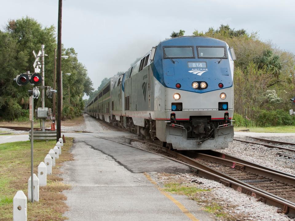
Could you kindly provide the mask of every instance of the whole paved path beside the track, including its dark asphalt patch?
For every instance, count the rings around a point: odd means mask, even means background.
[[[85,116],[86,128],[103,129]],[[89,125],[90,124],[90,125]],[[99,135],[128,142],[116,135],[124,131],[79,134],[74,139],[74,161],[62,167],[64,182],[73,188],[64,191],[70,221],[83,220],[214,220],[186,196],[161,192],[144,172],[189,172],[189,168],[165,157],[96,138]],[[90,133],[89,133],[90,134]],[[110,135],[114,134],[114,135]],[[154,172],[152,172],[154,173]],[[185,211],[185,212],[184,212]]]

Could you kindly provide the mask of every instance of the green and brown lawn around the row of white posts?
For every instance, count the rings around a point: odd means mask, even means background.
[[[47,186],[39,189],[39,202],[28,202],[28,221],[65,220],[62,214],[67,211],[61,192],[71,188],[63,184],[59,168],[62,162],[73,160],[69,152],[72,146],[72,138],[66,138],[62,154],[56,160],[56,166],[52,169],[52,175],[47,175]],[[34,173],[44,157],[53,148],[56,141],[34,141]],[[12,142],[0,144],[0,221],[12,220],[13,197],[18,190],[22,190],[26,196],[28,192],[28,179],[30,177],[30,141]]]

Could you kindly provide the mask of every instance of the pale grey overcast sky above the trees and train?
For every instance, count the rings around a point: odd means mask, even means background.
[[[58,0],[0,2],[2,29],[8,20],[25,16],[57,27]],[[258,31],[263,41],[295,53],[294,8],[292,0],[65,0],[62,43],[76,50],[96,89],[104,77],[126,71],[179,29],[191,35],[195,29],[228,24],[248,33]]]

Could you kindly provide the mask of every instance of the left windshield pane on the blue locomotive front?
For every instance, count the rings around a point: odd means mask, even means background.
[[[164,58],[194,58],[194,48],[191,46],[164,47]]]

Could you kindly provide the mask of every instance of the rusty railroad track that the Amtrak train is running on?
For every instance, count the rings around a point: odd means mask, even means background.
[[[142,149],[126,142],[117,141],[116,138],[111,139],[92,134],[87,135]],[[151,143],[150,141],[143,141],[115,134],[107,135],[147,143],[148,145],[169,153],[173,157],[167,157],[145,149],[142,150],[185,164],[202,177],[218,181],[249,196],[254,196],[258,201],[279,207],[280,209],[278,212],[285,213],[290,217],[295,217],[295,176],[292,174],[215,151],[208,151],[207,153],[183,151],[182,154],[169,150],[161,145]]]

